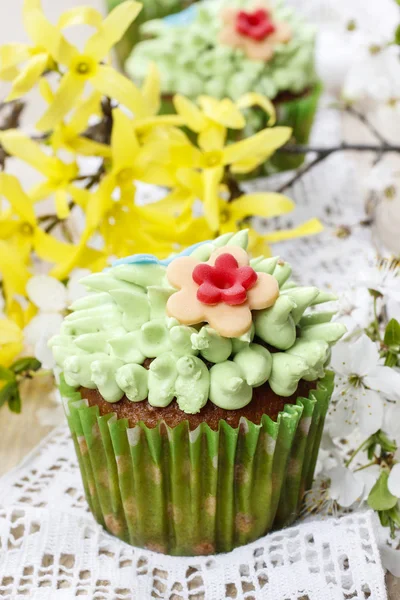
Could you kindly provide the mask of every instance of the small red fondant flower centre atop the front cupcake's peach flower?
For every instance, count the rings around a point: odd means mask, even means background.
[[[257,273],[251,267],[239,267],[231,254],[221,254],[215,266],[200,264],[193,270],[193,280],[200,286],[197,299],[203,304],[243,304],[247,290],[257,281]]]

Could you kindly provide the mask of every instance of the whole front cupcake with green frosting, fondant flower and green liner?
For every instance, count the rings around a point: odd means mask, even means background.
[[[88,504],[135,546],[230,551],[311,486],[344,327],[311,308],[331,294],[246,249],[240,231],[119,260],[50,342]]]

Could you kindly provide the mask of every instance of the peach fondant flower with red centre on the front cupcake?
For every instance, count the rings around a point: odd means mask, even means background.
[[[218,248],[206,263],[181,256],[168,265],[167,279],[179,290],[168,299],[169,316],[184,325],[209,323],[228,338],[246,333],[251,311],[272,306],[279,296],[276,279],[256,273],[237,246]]]

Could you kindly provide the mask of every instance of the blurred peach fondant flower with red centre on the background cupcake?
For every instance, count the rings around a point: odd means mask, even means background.
[[[240,48],[253,60],[271,60],[275,46],[286,44],[292,37],[289,25],[274,21],[266,4],[254,6],[252,11],[226,8],[221,16],[221,44]]]

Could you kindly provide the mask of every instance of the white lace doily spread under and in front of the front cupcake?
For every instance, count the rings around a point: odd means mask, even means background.
[[[5,600],[384,600],[372,512],[308,522],[229,554],[176,558],[105,533],[66,427],[0,480]]]

